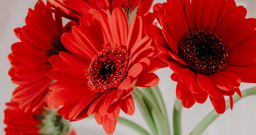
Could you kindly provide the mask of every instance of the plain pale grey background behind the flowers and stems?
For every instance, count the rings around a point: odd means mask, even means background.
[[[46,2],[46,0],[43,0]],[[256,18],[256,0],[235,0],[237,5],[247,8],[247,18]],[[17,87],[12,84],[7,72],[10,69],[10,63],[7,55],[11,53],[12,43],[19,40],[13,34],[16,27],[25,25],[25,17],[28,8],[33,8],[37,0],[0,0],[0,134],[4,135],[5,102],[11,99],[12,90]],[[155,0],[155,3],[166,2],[166,0]],[[152,8],[151,8],[152,11]],[[176,98],[176,83],[170,79],[172,71],[169,68],[160,69],[155,72],[159,78],[159,87],[162,91],[167,113],[172,125],[172,110]],[[255,84],[242,83],[240,89],[244,90],[256,86]],[[136,107],[136,105],[135,105]],[[182,112],[182,134],[188,135],[190,131],[203,119],[213,107],[208,100],[204,104],[195,104]],[[130,119],[141,125],[149,131],[138,108],[133,116],[128,116],[122,111],[120,116]],[[247,97],[234,105],[233,111],[228,109],[223,115],[216,119],[204,132],[203,135],[255,135],[256,134],[256,96]],[[105,135],[101,125],[98,125],[94,119],[83,119],[78,122],[72,122],[71,127],[76,130],[78,135]],[[171,127],[172,128],[172,127]],[[130,128],[117,123],[113,135],[139,135]]]

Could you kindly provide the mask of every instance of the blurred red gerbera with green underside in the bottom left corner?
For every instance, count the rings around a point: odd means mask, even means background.
[[[48,110],[43,104],[34,112],[24,112],[18,104],[15,101],[6,103],[6,135],[68,135],[69,123],[57,115],[57,111]],[[71,130],[69,135],[75,135],[75,131]]]

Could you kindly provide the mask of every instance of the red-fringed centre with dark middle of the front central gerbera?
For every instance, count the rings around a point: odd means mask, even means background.
[[[87,70],[88,86],[101,93],[117,88],[126,76],[128,60],[126,48],[106,47],[91,61]]]

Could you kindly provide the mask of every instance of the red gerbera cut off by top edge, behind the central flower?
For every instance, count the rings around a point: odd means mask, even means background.
[[[129,13],[144,14],[149,11],[153,0],[47,0],[47,5],[64,17],[79,22],[82,15],[88,14],[90,9],[105,9],[123,7]]]

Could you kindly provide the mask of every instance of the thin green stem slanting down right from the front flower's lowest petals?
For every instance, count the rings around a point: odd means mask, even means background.
[[[140,127],[140,125],[138,125],[138,124],[136,124],[132,121],[129,121],[128,119],[119,117],[117,119],[117,123],[122,124],[122,125],[126,125],[127,127],[133,129],[134,131],[137,131],[141,135],[150,135],[148,133],[148,131],[146,131],[144,128]]]

